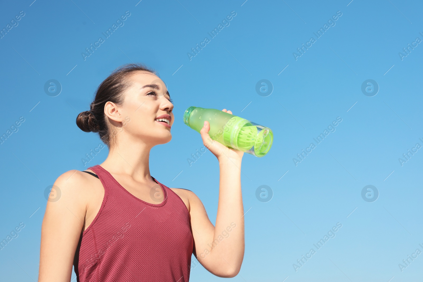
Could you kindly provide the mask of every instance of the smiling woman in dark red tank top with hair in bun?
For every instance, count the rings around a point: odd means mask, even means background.
[[[172,139],[174,122],[173,102],[154,70],[142,64],[116,69],[90,108],[77,125],[98,132],[109,155],[55,181],[60,198],[47,202],[38,281],[69,282],[74,265],[77,282],[187,282],[192,253],[212,274],[236,276],[244,257],[243,152],[211,140],[204,122],[203,144],[220,167],[213,226],[192,191],[168,188],[150,175],[150,150]],[[170,165],[158,161],[163,169]]]

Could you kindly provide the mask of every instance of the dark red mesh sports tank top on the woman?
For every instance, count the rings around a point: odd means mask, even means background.
[[[188,282],[193,239],[181,198],[151,176],[164,200],[147,203],[100,165],[89,169],[102,182],[104,198],[75,253],[77,282]]]

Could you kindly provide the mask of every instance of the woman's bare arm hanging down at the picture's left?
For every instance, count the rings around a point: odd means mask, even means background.
[[[86,212],[81,172],[70,170],[54,183],[60,198],[47,201],[41,227],[38,282],[69,282]],[[59,192],[56,192],[59,194]]]

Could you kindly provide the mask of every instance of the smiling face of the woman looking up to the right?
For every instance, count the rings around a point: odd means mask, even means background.
[[[148,71],[135,71],[129,77],[131,86],[125,92],[122,114],[126,138],[143,140],[149,145],[164,144],[172,139],[173,104],[165,83]],[[168,120],[158,121],[158,118]],[[129,120],[129,121],[128,121]]]

